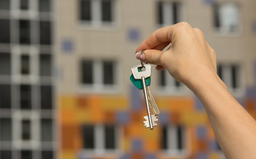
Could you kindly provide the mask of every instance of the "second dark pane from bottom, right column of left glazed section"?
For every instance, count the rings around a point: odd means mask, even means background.
[[[42,132],[41,140],[43,142],[52,141],[53,129],[52,129],[52,120],[51,119],[41,119],[41,132]]]

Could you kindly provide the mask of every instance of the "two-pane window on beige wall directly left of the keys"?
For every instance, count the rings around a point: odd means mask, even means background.
[[[81,63],[81,83],[95,88],[114,86],[117,83],[116,71],[114,61],[84,60]]]

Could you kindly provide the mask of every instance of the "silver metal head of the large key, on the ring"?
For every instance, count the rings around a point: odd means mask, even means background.
[[[144,76],[145,78],[148,78],[151,76],[152,65],[144,64],[144,67],[145,67],[145,71],[141,71],[141,72],[139,72],[138,69],[142,68],[142,65],[137,65],[131,68],[132,74],[135,79],[141,79],[142,76]]]

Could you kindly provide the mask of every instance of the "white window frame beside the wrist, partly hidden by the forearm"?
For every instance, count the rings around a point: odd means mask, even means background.
[[[236,97],[243,97],[245,95],[245,71],[239,64],[234,63],[220,63],[218,65],[222,66],[222,81],[227,85],[229,91],[231,94]],[[238,67],[237,73],[236,73],[236,81],[237,81],[237,87],[233,88],[232,85],[232,75],[231,75],[231,67],[236,65]]]

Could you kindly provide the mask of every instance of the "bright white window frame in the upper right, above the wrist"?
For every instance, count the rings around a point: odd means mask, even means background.
[[[240,7],[236,2],[221,2],[216,4],[218,6],[219,27],[214,26],[215,32],[218,35],[240,35],[242,26],[242,16]],[[216,11],[214,11],[216,13]],[[232,16],[232,14],[234,16]],[[214,15],[216,16],[216,15]],[[230,18],[233,17],[233,18]],[[231,24],[236,24],[234,30],[231,29]]]

